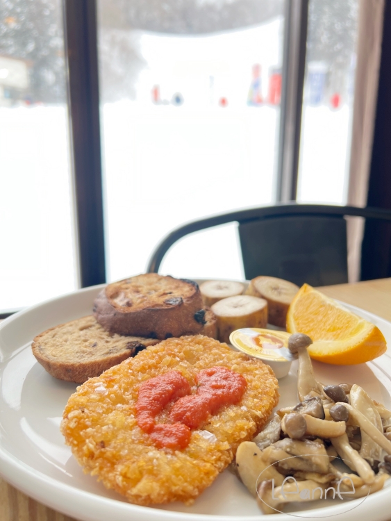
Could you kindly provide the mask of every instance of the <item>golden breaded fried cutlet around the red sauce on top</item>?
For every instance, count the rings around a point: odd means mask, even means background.
[[[226,367],[246,381],[240,402],[220,408],[191,431],[185,449],[158,449],[138,427],[142,383],[179,372],[197,392],[197,374]],[[278,402],[268,365],[205,336],[169,338],[78,387],[65,407],[61,431],[86,473],[139,505],[192,504],[231,463],[238,445],[262,429]],[[169,422],[169,410],[157,417]]]

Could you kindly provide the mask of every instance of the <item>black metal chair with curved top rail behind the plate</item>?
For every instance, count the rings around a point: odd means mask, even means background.
[[[345,283],[347,215],[391,223],[391,211],[381,208],[297,203],[215,215],[169,233],[153,252],[148,272],[158,272],[167,250],[184,235],[236,221],[246,279],[262,274],[299,286],[304,282],[312,286]]]

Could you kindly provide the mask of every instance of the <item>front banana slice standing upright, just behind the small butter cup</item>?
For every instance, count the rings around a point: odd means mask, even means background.
[[[229,342],[229,336],[235,329],[265,328],[267,324],[267,301],[250,295],[236,295],[219,300],[213,304],[212,311],[217,317],[220,342]]]

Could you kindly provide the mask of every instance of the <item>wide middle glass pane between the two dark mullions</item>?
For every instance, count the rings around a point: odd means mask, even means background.
[[[99,0],[108,279],[144,271],[183,222],[274,199],[283,6]]]

